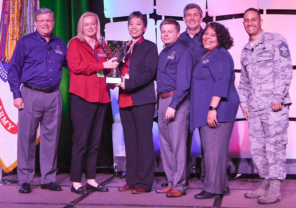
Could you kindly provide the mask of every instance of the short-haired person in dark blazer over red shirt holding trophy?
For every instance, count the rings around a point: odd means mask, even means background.
[[[156,44],[144,39],[146,29],[146,15],[131,13],[128,31],[135,44],[120,65],[123,81],[115,85],[120,87],[119,112],[126,150],[126,185],[118,191],[133,194],[151,191],[155,169],[152,126],[158,53]]]

